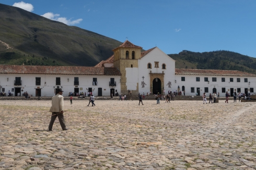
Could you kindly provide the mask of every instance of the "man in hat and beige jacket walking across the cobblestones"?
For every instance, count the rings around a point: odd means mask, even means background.
[[[56,119],[56,117],[59,118],[62,130],[67,130],[68,128],[65,125],[65,120],[64,120],[64,100],[63,100],[63,96],[62,96],[62,89],[61,88],[57,88],[56,89],[56,95],[52,97],[52,107],[50,109],[49,112],[52,112],[52,117],[51,117],[51,122],[49,124],[49,130],[52,131],[52,126],[53,123]]]

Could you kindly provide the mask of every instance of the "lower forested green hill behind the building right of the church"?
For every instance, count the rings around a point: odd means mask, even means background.
[[[176,60],[177,69],[240,70],[256,74],[256,58],[227,50],[204,53],[183,50],[168,56]]]

